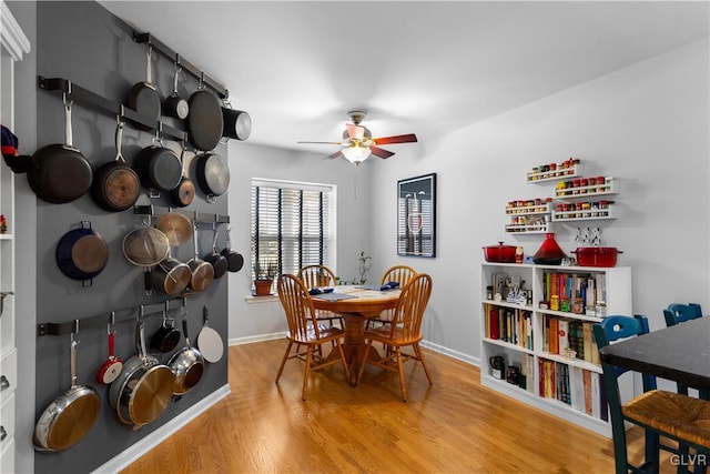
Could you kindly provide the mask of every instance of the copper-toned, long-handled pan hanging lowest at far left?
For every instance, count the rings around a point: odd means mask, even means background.
[[[90,385],[77,384],[77,345],[74,334],[79,331],[79,321],[74,322],[71,333],[71,387],[54,399],[34,427],[34,448],[37,451],[67,450],[83,438],[99,417],[101,397]]]

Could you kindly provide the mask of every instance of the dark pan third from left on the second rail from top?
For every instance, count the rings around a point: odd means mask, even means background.
[[[141,150],[135,158],[135,171],[145,188],[158,192],[175,189],[182,179],[180,158],[163,147],[158,131],[153,144]]]

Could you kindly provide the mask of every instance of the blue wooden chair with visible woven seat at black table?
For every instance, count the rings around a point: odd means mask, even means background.
[[[648,319],[642,315],[611,315],[600,323],[595,323],[592,327],[599,349],[613,341],[649,332]],[[641,374],[643,393],[622,404],[618,379],[629,370],[604,361],[601,369],[611,415],[617,474],[658,472],[659,450],[680,456],[682,446],[688,445],[710,456],[710,402],[657,390],[656,377]],[[640,465],[629,462],[625,422],[641,426],[646,432],[645,460]],[[660,436],[677,441],[681,448],[661,444]]]

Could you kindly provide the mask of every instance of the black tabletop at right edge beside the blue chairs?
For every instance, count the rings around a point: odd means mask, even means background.
[[[710,391],[710,316],[610,344],[602,361]]]

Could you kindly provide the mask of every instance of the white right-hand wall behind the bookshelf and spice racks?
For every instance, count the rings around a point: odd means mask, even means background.
[[[505,241],[539,248],[542,235],[504,232],[511,199],[551,196],[527,184],[534,165],[576,157],[586,175],[620,180],[621,216],[602,223],[608,246],[633,269],[633,310],[662,327],[661,309],[694,301],[710,309],[708,40],[625,68],[481,123],[423,143],[417,157],[375,163],[372,173],[373,272],[395,261],[426,271],[434,291],[425,340],[453,355],[479,356],[481,246]],[[397,259],[399,179],[437,172],[437,258]],[[564,250],[576,226],[560,228]],[[384,243],[384,245],[381,245]]]

